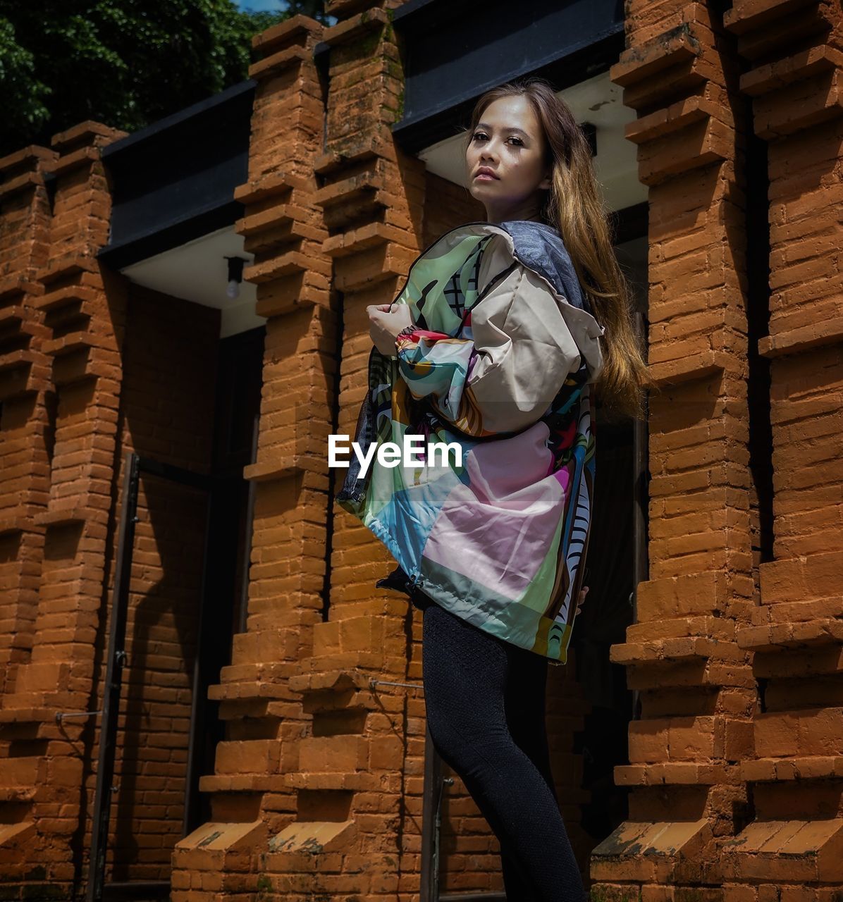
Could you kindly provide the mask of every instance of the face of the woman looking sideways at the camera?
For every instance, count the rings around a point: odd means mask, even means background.
[[[466,152],[468,190],[486,207],[489,222],[538,219],[542,194],[551,187],[544,164],[544,135],[533,105],[523,95],[499,97],[480,115]],[[496,178],[477,178],[486,167]]]

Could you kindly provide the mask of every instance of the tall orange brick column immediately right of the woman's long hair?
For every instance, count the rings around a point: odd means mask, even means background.
[[[755,679],[736,626],[755,602],[745,313],[746,126],[736,61],[706,5],[626,5],[611,69],[638,111],[649,187],[650,578],[611,657],[641,692],[630,723],[629,819],[592,854],[595,889],[671,898],[717,883],[718,842],[739,829],[739,762]],[[736,117],[737,116],[737,117]],[[689,890],[690,891],[690,890]],[[713,890],[710,899],[720,899]]]

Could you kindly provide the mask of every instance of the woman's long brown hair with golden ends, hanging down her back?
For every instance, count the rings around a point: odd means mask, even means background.
[[[551,189],[542,220],[559,230],[594,316],[601,338],[603,368],[595,389],[607,412],[644,419],[644,391],[654,387],[633,321],[631,291],[612,246],[612,228],[603,207],[591,161],[591,146],[570,106],[544,78],[517,78],[493,87],[477,100],[465,147],[483,111],[499,97],[525,96],[542,124],[546,162],[552,163]]]

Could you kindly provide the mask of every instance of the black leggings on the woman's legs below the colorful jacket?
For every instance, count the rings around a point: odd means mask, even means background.
[[[506,898],[583,902],[548,755],[548,659],[420,602],[431,739],[495,832]]]

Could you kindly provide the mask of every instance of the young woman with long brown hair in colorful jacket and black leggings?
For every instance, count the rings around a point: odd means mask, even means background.
[[[466,173],[486,221],[440,236],[391,305],[367,308],[375,347],[361,446],[440,437],[461,464],[349,469],[338,503],[399,566],[378,585],[423,613],[431,738],[500,842],[514,902],[580,902],[544,723],[586,588],[594,492],[591,390],[641,416],[650,385],[591,152],[541,78],[486,92]],[[422,589],[422,586],[424,588]]]

